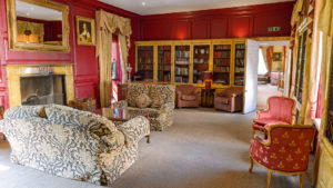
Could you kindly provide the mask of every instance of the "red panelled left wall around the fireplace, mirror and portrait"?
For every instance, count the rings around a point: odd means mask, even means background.
[[[133,33],[131,41],[139,37],[139,16],[122,9],[108,6],[95,0],[54,0],[70,8],[70,53],[11,51],[8,49],[6,0],[0,0],[0,106],[9,107],[8,86],[6,77],[7,65],[58,65],[72,63],[74,72],[75,97],[92,97],[99,99],[99,66],[95,58],[95,47],[78,46],[75,42],[75,16],[95,17],[95,10],[105,11],[131,19]],[[129,62],[134,66],[135,48],[132,43]]]

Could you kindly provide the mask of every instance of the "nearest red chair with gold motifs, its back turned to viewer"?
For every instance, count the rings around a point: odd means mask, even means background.
[[[300,175],[300,186],[307,168],[309,152],[314,137],[312,126],[273,125],[265,126],[268,139],[255,137],[251,140],[249,169],[252,172],[253,161],[268,170],[270,187],[272,172]]]

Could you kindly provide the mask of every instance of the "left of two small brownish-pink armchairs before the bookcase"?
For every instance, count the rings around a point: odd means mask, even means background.
[[[180,85],[175,87],[176,106],[182,107],[199,107],[198,89],[192,85]]]

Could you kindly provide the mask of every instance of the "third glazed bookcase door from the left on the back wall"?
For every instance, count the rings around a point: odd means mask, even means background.
[[[174,46],[174,82],[188,83],[190,76],[191,46]]]

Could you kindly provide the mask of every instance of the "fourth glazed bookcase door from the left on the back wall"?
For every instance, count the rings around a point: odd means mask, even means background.
[[[193,48],[193,83],[203,83],[202,73],[209,71],[210,66],[210,44],[194,44]]]

